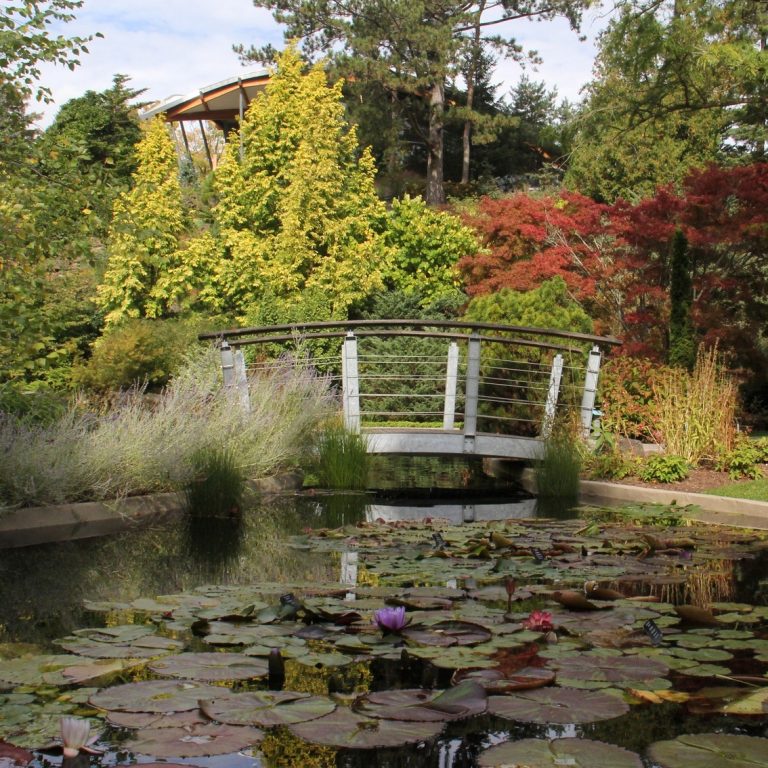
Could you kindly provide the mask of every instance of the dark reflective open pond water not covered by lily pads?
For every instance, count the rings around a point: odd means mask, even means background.
[[[0,551],[0,649],[3,643],[34,643],[60,652],[53,641],[94,626],[84,601],[127,604],[141,597],[186,592],[204,585],[338,583],[339,566],[326,555],[298,551],[289,537],[307,529],[337,528],[361,521],[445,518],[453,523],[491,519],[568,519],[563,505],[544,506],[525,494],[500,498],[477,494],[435,501],[399,494],[297,494],[262,500],[241,517],[188,519],[171,515],[131,526],[123,533]],[[423,679],[395,679],[387,663],[371,666],[376,688],[418,687]],[[405,675],[405,677],[404,677]],[[436,681],[437,682],[437,681]],[[442,681],[436,687],[444,687]],[[0,721],[2,713],[0,712]],[[680,733],[733,731],[725,718],[691,717],[675,705],[633,707],[620,718],[582,726],[544,726],[491,716],[449,724],[432,742],[400,749],[342,750],[328,762],[317,748],[287,737],[272,758],[258,752],[184,761],[203,768],[474,768],[478,754],[493,744],[523,738],[580,736],[642,752],[648,743]],[[737,725],[739,733],[765,735],[764,723]],[[283,737],[281,737],[283,738]],[[92,766],[143,762],[148,758],[108,751]],[[58,766],[38,758],[36,768]],[[652,766],[645,760],[644,765]]]

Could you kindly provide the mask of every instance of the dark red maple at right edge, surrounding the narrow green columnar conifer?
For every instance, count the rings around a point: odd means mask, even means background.
[[[767,200],[768,165],[756,163],[692,171],[680,190],[662,187],[636,206],[613,207],[613,227],[626,244],[623,261],[632,276],[623,310],[630,351],[658,355],[665,348],[652,329],[668,322],[668,243],[679,228],[692,258],[697,341],[719,340],[745,366],[755,365],[766,318],[760,296],[768,279],[761,267]]]

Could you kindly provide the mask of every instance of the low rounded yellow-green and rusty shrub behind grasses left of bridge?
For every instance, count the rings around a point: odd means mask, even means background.
[[[165,386],[182,367],[204,323],[199,320],[126,320],[93,344],[74,371],[77,384],[97,392]]]

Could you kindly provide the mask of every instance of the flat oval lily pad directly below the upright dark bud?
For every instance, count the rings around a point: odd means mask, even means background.
[[[201,701],[201,711],[211,720],[229,725],[293,725],[324,717],[336,709],[326,696],[293,691],[226,693]]]

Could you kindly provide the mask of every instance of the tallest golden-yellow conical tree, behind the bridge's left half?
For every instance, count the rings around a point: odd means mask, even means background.
[[[199,298],[242,316],[259,313],[263,296],[285,314],[325,296],[326,318],[343,318],[382,284],[385,211],[373,162],[345,124],[341,83],[328,86],[320,66],[304,74],[292,48],[277,67],[246,113],[243,162],[230,143],[216,171],[210,245],[223,252],[197,253],[214,270]],[[195,268],[179,254],[175,269]]]

